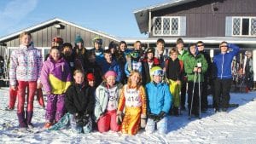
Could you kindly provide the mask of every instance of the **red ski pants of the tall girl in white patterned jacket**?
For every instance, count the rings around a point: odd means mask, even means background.
[[[28,89],[27,96],[26,96],[26,89]],[[26,111],[32,112],[33,111],[33,101],[34,95],[37,90],[37,82],[36,81],[18,81],[18,110],[17,112],[24,112],[24,105],[26,99]]]

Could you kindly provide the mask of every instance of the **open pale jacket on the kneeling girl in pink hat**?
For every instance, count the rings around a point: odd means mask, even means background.
[[[117,100],[116,106],[118,106],[120,89],[123,87],[123,85],[120,83],[117,83],[115,84],[115,87],[117,87],[118,100]],[[102,84],[100,84],[96,88],[95,95],[96,95],[96,103],[95,103],[94,115],[97,121],[100,118],[100,116],[106,112],[108,107],[108,88],[107,88],[106,82],[102,82]]]

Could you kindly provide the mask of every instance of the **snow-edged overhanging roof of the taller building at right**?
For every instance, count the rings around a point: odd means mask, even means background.
[[[181,4],[189,3],[189,2],[193,2],[193,1],[196,1],[196,0],[170,0],[166,3],[159,3],[156,5],[145,7],[143,9],[135,10],[133,13],[137,20],[137,26],[139,27],[140,32],[141,33],[148,32],[148,13],[149,13],[149,11],[153,12],[153,11],[157,11],[160,9],[166,9],[166,8],[174,7],[177,5],[181,5]]]

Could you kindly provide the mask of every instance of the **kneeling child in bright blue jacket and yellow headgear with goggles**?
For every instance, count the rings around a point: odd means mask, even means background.
[[[154,66],[150,69],[150,83],[146,84],[146,93],[148,95],[148,122],[146,132],[153,133],[156,129],[160,133],[167,133],[166,113],[169,112],[172,105],[172,95],[167,84],[162,83],[164,72],[160,66]],[[171,102],[170,102],[171,101]]]

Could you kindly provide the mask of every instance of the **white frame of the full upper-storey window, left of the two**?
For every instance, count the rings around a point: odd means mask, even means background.
[[[155,19],[161,19],[161,34],[155,34],[154,33],[154,26],[153,26],[153,36],[180,36],[180,32],[181,32],[181,17],[180,16],[155,16],[153,19],[153,25],[154,25],[154,21]],[[164,29],[164,22],[163,20],[169,18],[170,19],[170,34],[163,34]],[[177,28],[177,34],[172,34],[172,19],[178,19],[178,28]]]

